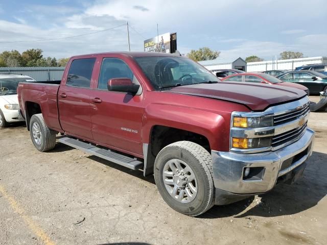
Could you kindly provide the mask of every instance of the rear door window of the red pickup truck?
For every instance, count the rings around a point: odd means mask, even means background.
[[[68,71],[67,85],[89,88],[96,58],[73,60]]]

